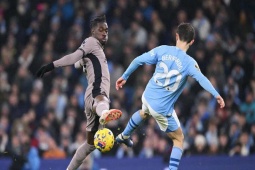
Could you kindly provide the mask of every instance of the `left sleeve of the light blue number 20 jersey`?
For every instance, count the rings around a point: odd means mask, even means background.
[[[128,77],[141,65],[144,64],[156,64],[158,61],[157,52],[159,47],[150,50],[149,52],[143,53],[142,55],[136,57],[128,66],[127,70],[121,76],[123,79],[127,80]]]

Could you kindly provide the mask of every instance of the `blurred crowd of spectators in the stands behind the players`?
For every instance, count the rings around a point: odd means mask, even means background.
[[[115,135],[141,108],[154,66],[140,67],[118,92],[115,81],[138,55],[158,45],[175,45],[176,27],[190,22],[196,39],[187,53],[226,107],[219,109],[209,93],[188,80],[175,105],[185,135],[184,160],[241,156],[238,163],[250,157],[255,153],[254,9],[253,0],[0,0],[0,165],[5,165],[0,169],[43,169],[44,161],[56,159],[68,164],[86,140],[87,80],[82,70],[59,68],[43,79],[35,73],[74,52],[90,34],[91,17],[101,13],[109,25],[105,54],[111,107],[124,113],[107,125]],[[167,167],[172,143],[154,119],[145,121],[132,138],[133,148],[115,145],[106,154],[94,151],[81,169],[99,169],[104,157],[112,162],[159,158]]]

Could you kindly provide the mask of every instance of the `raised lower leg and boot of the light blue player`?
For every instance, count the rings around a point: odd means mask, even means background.
[[[141,114],[144,115],[143,111],[135,112],[132,117],[129,119],[128,124],[124,131],[119,134],[115,141],[117,143],[124,143],[128,147],[133,146],[133,141],[131,140],[130,136],[132,132],[141,124],[141,122],[146,118],[146,116],[142,117]]]

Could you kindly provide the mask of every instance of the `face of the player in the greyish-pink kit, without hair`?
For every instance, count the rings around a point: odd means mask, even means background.
[[[92,32],[93,37],[99,40],[102,45],[105,45],[108,40],[108,25],[106,22],[100,22]]]

